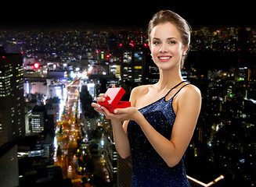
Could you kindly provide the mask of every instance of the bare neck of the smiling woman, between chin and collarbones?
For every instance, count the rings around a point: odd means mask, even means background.
[[[171,89],[173,86],[183,81],[182,73],[179,69],[159,69],[159,72],[160,78],[156,85],[161,90],[165,88]]]

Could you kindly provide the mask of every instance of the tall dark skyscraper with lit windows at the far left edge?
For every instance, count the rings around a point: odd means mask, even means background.
[[[24,135],[22,55],[0,47],[0,146]]]

